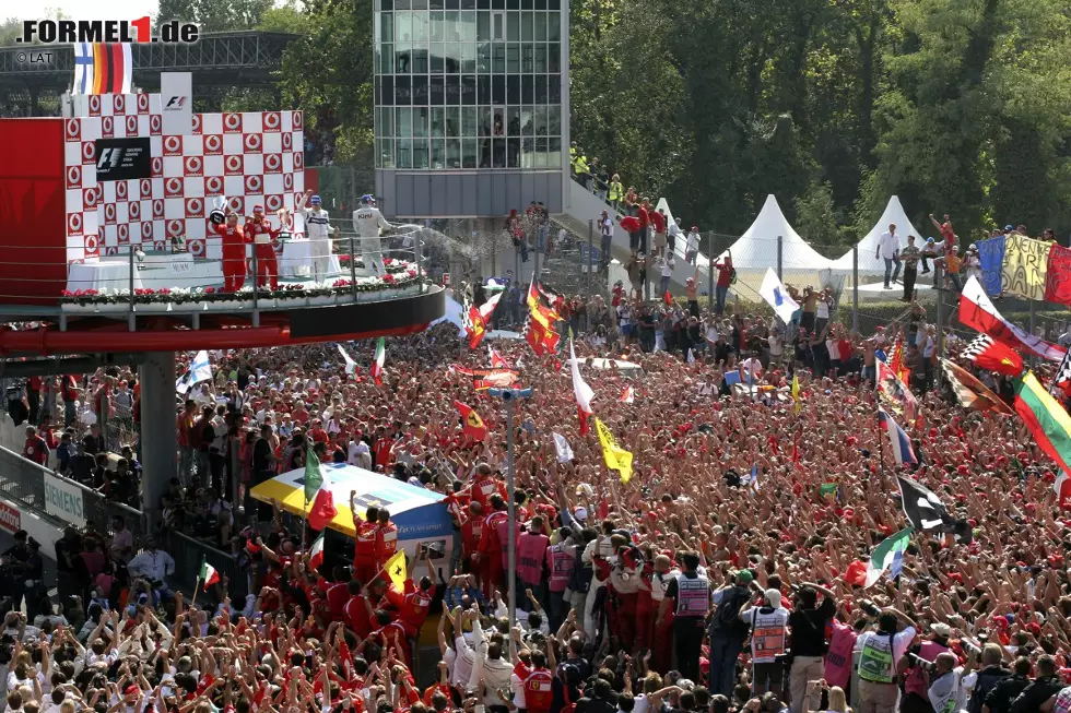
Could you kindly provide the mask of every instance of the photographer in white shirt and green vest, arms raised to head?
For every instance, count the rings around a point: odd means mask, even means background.
[[[897,625],[903,621],[903,631]],[[856,640],[859,652],[859,713],[892,713],[899,694],[895,662],[907,652],[918,625],[899,609],[886,608],[878,617],[878,631],[864,631]]]

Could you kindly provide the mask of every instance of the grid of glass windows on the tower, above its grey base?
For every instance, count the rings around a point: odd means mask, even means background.
[[[377,7],[377,166],[562,166],[560,0]]]

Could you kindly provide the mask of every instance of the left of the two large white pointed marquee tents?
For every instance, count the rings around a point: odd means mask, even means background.
[[[732,265],[738,271],[777,270],[777,236],[781,237],[781,269],[784,271],[815,272],[829,268],[832,261],[823,258],[800,237],[785,214],[777,199],[770,193],[751,227],[732,243]],[[727,251],[728,252],[728,251]],[[720,260],[726,253],[718,257]]]

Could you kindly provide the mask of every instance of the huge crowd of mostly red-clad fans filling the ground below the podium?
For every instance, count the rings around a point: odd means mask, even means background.
[[[697,305],[656,320],[623,293],[582,305],[574,344],[595,415],[633,454],[627,482],[604,467],[597,429],[580,433],[567,350],[493,344],[533,389],[515,413],[514,628],[506,424],[466,375],[487,367],[483,348],[450,324],[389,340],[381,384],[363,368],[348,375],[333,345],[215,353],[213,379],[178,400],[170,487],[143,503],[163,522],[160,540],[136,542],[121,521],[69,528],[46,552],[58,597],[35,584],[10,604],[8,710],[1068,709],[1071,520],[1054,464],[1017,417],[965,411],[916,361],[920,413],[903,426],[919,464],[898,466],[881,440],[873,359],[901,335],[908,356],[932,348],[921,307],[860,338],[820,312],[815,294],[789,336],[758,314]],[[567,333],[574,312],[563,316]],[[652,338],[659,348],[645,348]],[[370,345],[348,349],[370,364]],[[600,369],[597,356],[637,368]],[[58,421],[64,388],[78,387],[37,385],[34,438],[50,448],[40,414]],[[108,368],[79,385],[98,408],[130,390],[137,413],[133,372]],[[480,413],[485,438],[466,433],[455,401]],[[136,453],[121,454],[120,473],[85,445],[62,472],[137,499]],[[303,467],[309,449],[440,494],[450,555],[414,555],[395,583],[381,569],[397,545],[390,513],[356,509],[352,551],[332,548],[317,568],[315,533],[248,496]],[[972,537],[917,532],[897,579],[863,587],[858,563],[906,524],[898,474],[938,494]],[[169,585],[175,562],[156,544],[173,530],[234,554],[245,581],[215,582],[193,606],[192,591]],[[38,546],[23,535],[4,572],[38,582]],[[428,664],[419,641],[432,630]]]

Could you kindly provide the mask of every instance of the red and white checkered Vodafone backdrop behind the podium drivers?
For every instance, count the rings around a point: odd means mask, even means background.
[[[196,114],[193,133],[163,135],[158,94],[90,95],[84,116],[67,119],[67,259],[119,254],[120,246],[161,249],[186,236],[197,257],[219,260],[221,239],[208,229],[213,199],[242,215],[274,211],[305,190],[301,111]],[[96,182],[94,140],[149,136],[152,178]],[[294,230],[304,233],[301,217]]]

